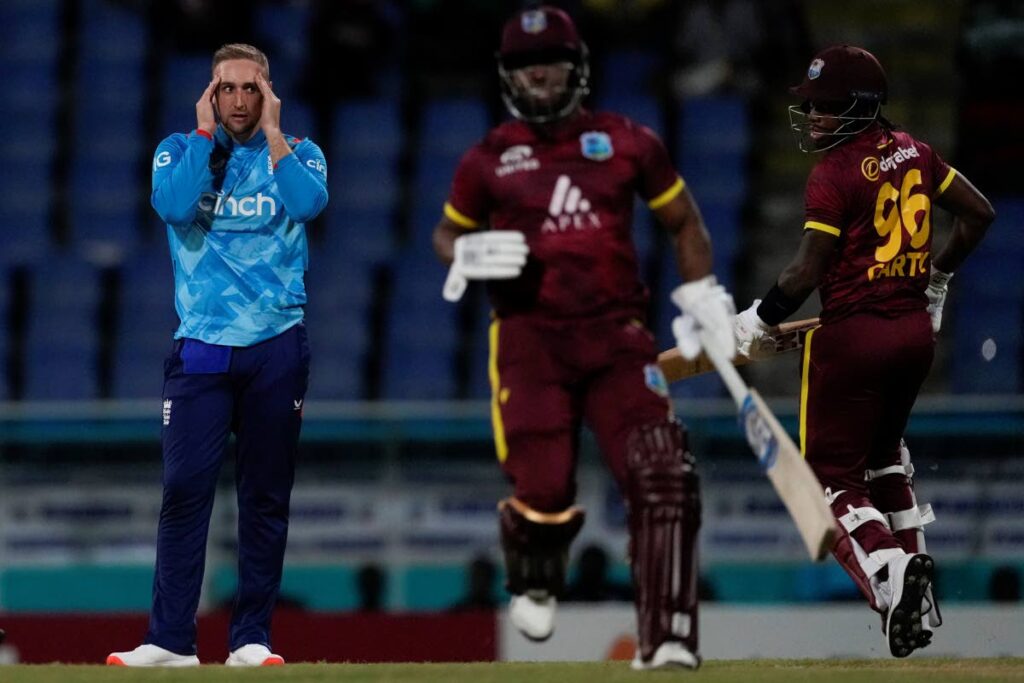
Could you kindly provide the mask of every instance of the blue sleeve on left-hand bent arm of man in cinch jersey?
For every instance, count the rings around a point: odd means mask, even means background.
[[[213,178],[211,152],[213,140],[196,133],[171,135],[157,146],[150,202],[164,222],[183,225],[195,218],[203,188]]]

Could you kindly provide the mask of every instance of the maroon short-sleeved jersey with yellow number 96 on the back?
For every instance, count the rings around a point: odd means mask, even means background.
[[[881,126],[825,153],[807,181],[804,224],[839,238],[818,288],[822,319],[928,304],[932,200],[955,173],[929,145]]]

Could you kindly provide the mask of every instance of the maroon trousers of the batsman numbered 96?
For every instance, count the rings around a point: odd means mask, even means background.
[[[905,477],[865,479],[866,470],[900,464],[900,439],[934,355],[931,319],[922,309],[890,318],[859,314],[826,323],[804,345],[800,436],[808,464],[835,497],[837,518],[851,510],[895,512],[912,505]],[[845,492],[840,494],[840,492]],[[864,553],[905,548],[881,521],[852,530],[834,549],[864,590],[863,566],[849,538]]]

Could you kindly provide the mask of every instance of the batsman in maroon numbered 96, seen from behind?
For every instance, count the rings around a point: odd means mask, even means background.
[[[800,248],[764,299],[736,316],[736,340],[756,356],[818,290],[801,444],[840,522],[833,553],[901,657],[942,623],[925,553],[935,516],[914,498],[901,437],[932,365],[946,285],[994,214],[967,178],[882,116],[888,80],[869,52],[829,47],[791,91],[804,99],[790,110],[801,148],[823,156],[807,181]],[[952,236],[934,255],[933,205],[953,214]]]

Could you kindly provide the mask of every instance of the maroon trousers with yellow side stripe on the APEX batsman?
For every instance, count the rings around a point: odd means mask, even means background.
[[[543,512],[572,505],[584,422],[625,490],[630,432],[664,422],[672,412],[656,355],[650,332],[622,316],[494,322],[492,419],[513,495]]]

